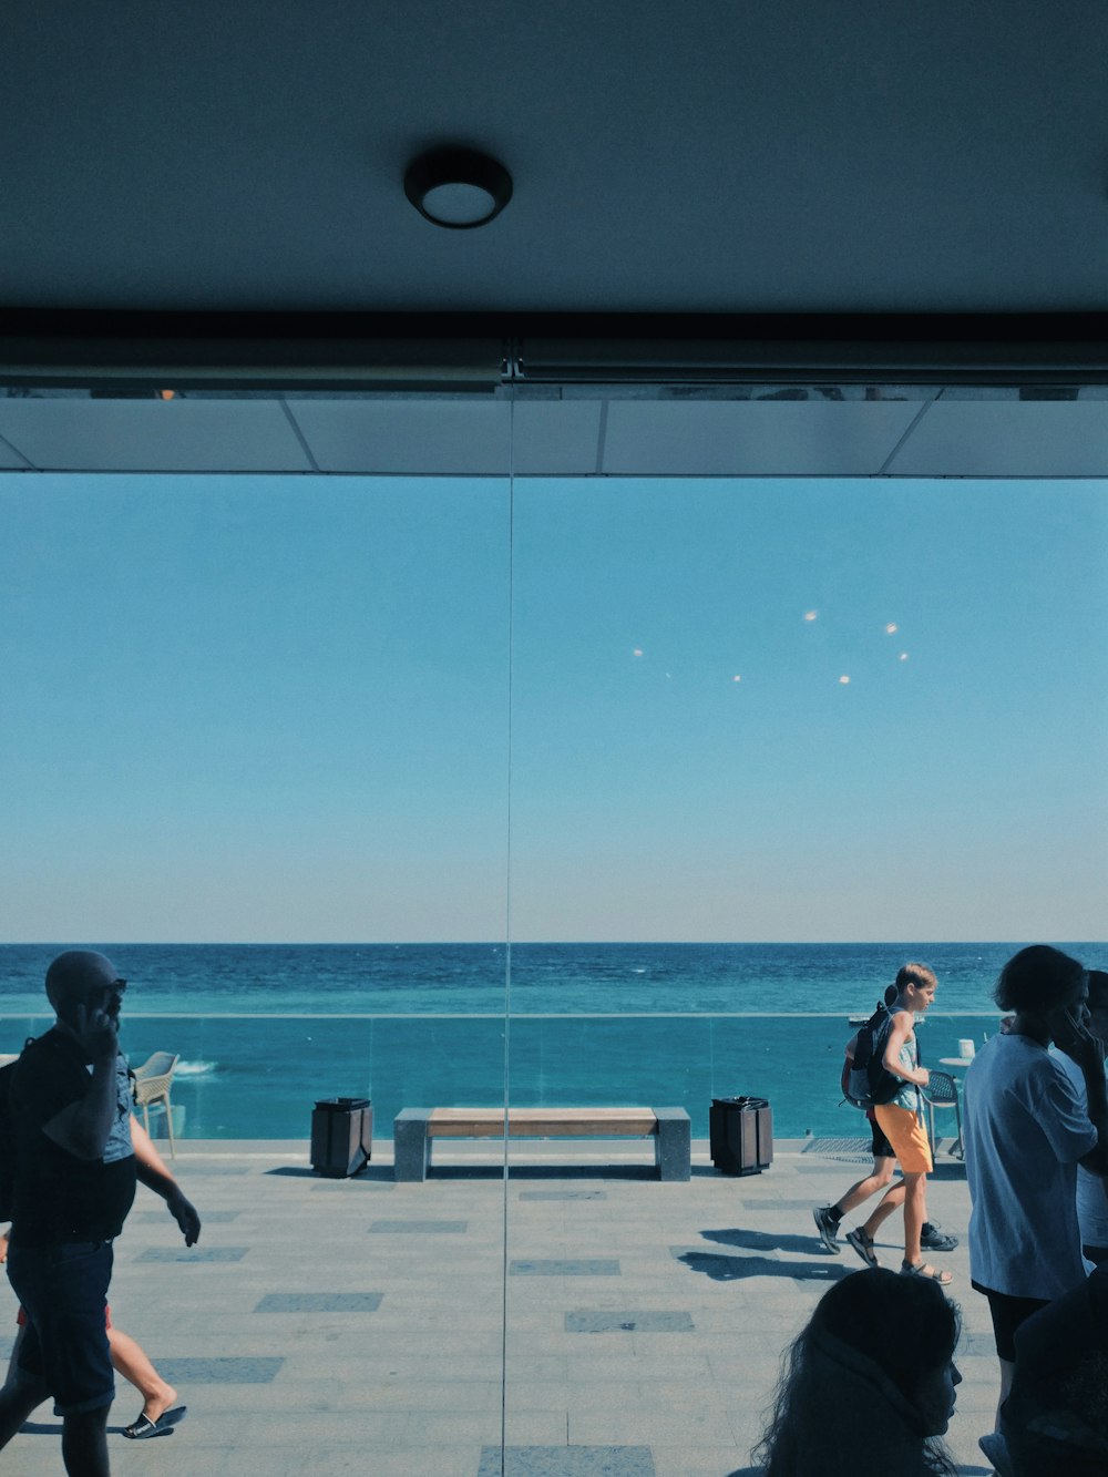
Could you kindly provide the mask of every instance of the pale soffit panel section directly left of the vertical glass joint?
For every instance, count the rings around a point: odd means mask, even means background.
[[[321,471],[507,477],[504,400],[294,400]]]

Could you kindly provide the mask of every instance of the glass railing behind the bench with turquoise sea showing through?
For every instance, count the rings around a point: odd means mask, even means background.
[[[46,1016],[0,1016],[18,1050]],[[504,1100],[502,1015],[131,1015],[131,1065],[180,1056],[171,1097],[189,1139],[307,1139],[322,1097],[369,1096],[375,1137],[400,1108],[496,1106]],[[925,1065],[978,1046],[997,1015],[932,1015],[919,1032]],[[516,1106],[678,1106],[708,1137],[712,1097],[768,1097],[779,1137],[861,1136],[841,1105],[844,1015],[523,1015],[511,1018]],[[954,1069],[953,1075],[962,1075]],[[151,1121],[152,1131],[161,1124]],[[183,1121],[180,1121],[183,1120]]]

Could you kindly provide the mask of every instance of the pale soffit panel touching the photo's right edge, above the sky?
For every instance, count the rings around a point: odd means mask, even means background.
[[[940,400],[889,471],[898,477],[1105,477],[1108,403]]]

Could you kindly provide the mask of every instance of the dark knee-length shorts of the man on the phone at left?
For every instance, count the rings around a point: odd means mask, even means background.
[[[111,1276],[109,1241],[9,1248],[7,1279],[27,1310],[15,1377],[43,1385],[55,1415],[84,1415],[115,1399],[106,1331]]]

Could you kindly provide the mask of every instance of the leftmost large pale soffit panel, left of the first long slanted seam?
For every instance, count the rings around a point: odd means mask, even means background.
[[[310,471],[276,400],[0,400],[0,436],[43,471]]]

